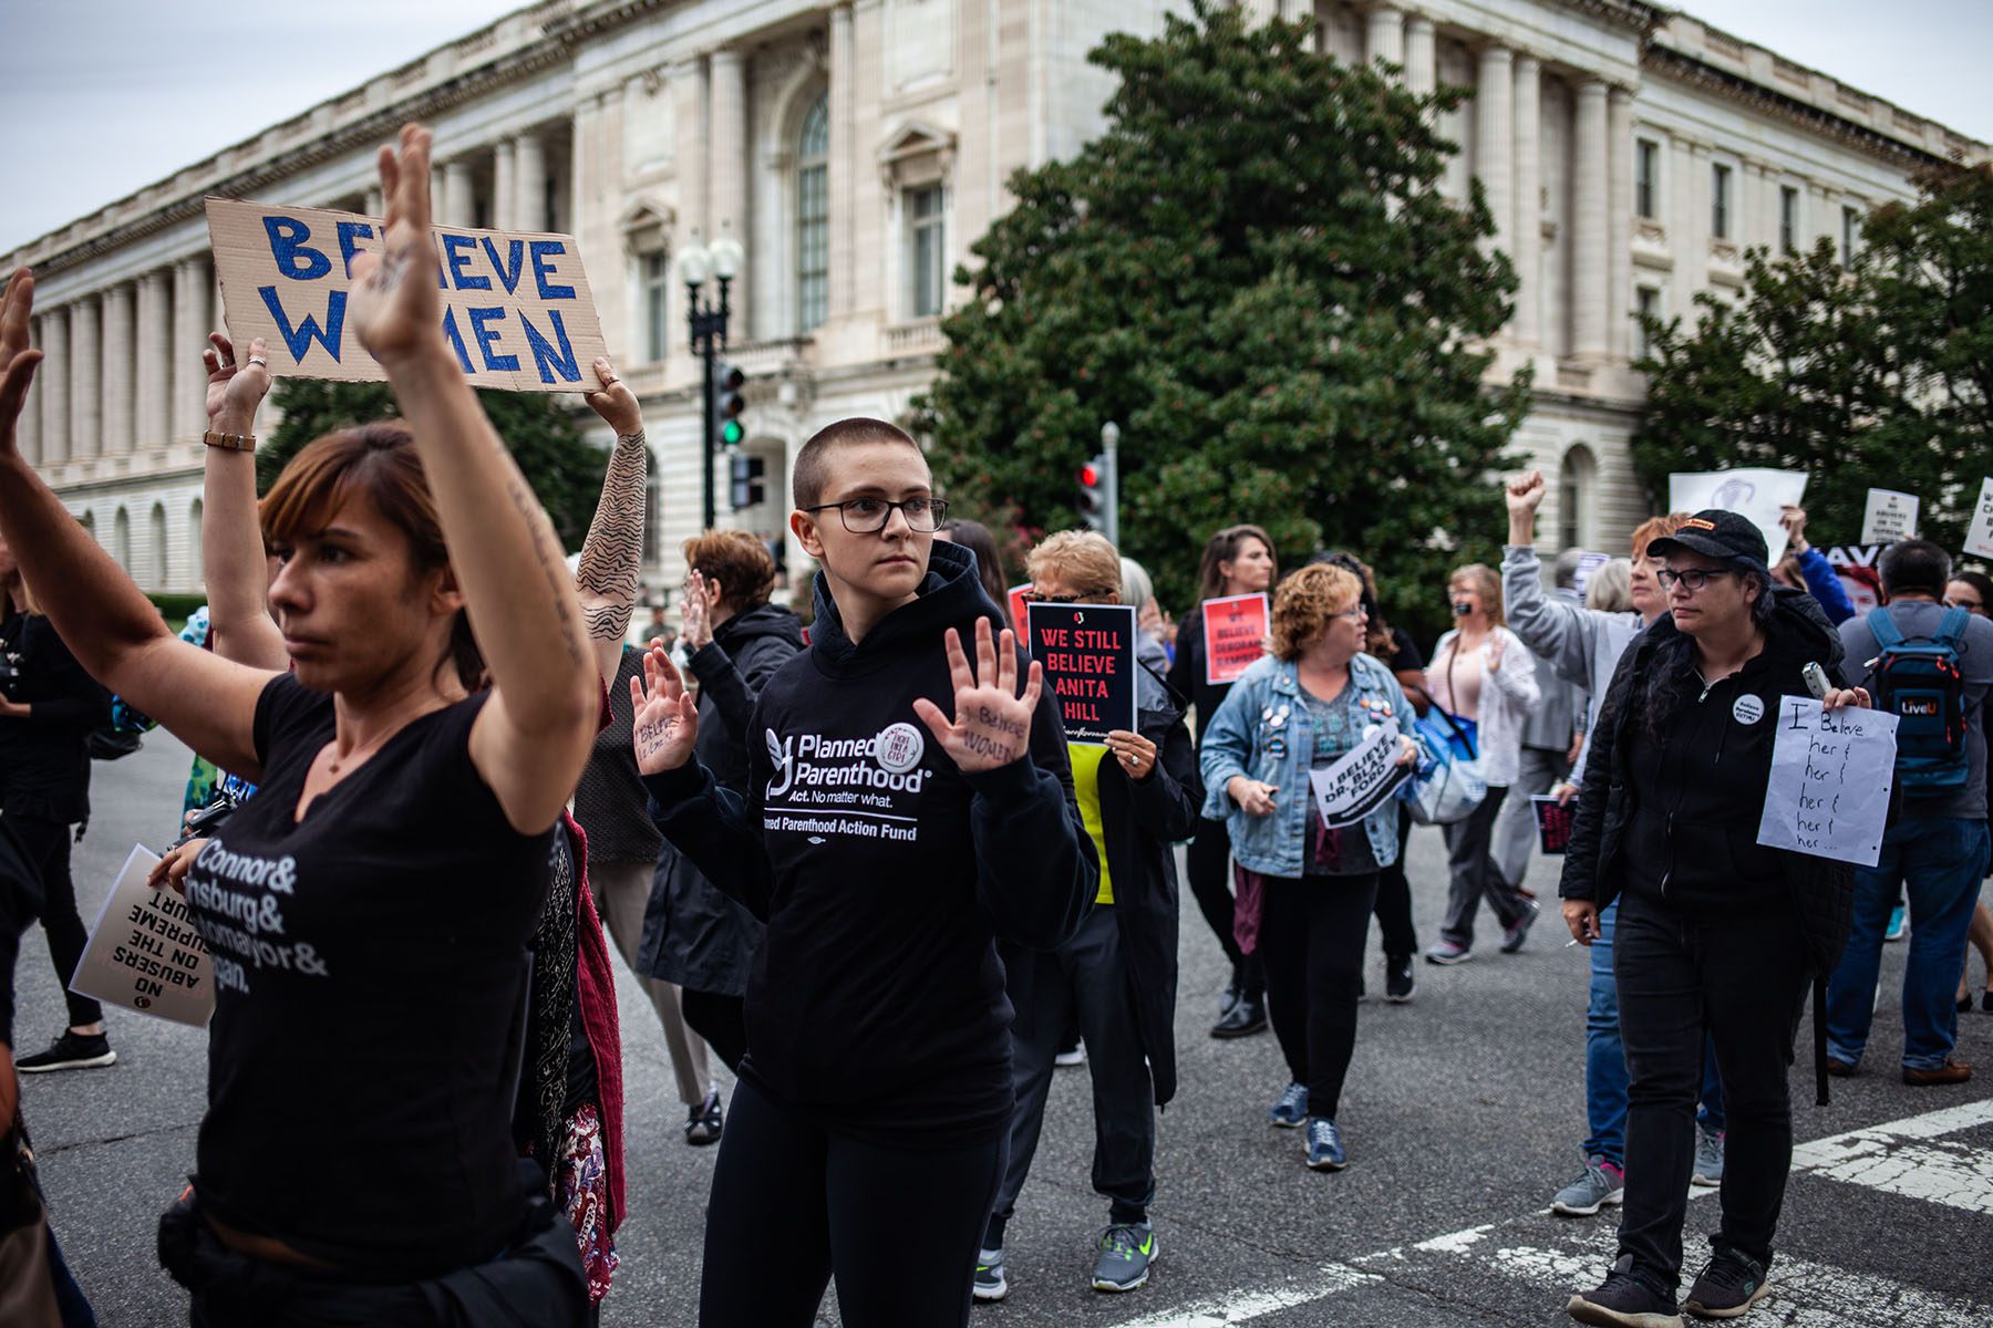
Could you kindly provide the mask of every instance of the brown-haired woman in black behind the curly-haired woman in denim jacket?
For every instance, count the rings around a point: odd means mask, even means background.
[[[1170,687],[1188,697],[1198,713],[1198,749],[1204,747],[1204,727],[1224,705],[1232,683],[1206,681],[1204,673],[1204,601],[1226,595],[1252,595],[1274,585],[1274,538],[1258,526],[1226,526],[1204,546],[1198,563],[1198,607],[1184,615],[1176,631],[1176,659],[1170,665]],[[1232,982],[1226,986],[1212,1037],[1246,1037],[1266,1029],[1266,978],[1258,956],[1240,950],[1232,934],[1232,840],[1224,820],[1204,820],[1184,854],[1190,892],[1198,898],[1204,922],[1218,936],[1232,960]]]

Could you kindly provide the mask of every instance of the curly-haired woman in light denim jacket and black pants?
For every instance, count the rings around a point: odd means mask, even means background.
[[[1274,595],[1274,655],[1234,685],[1204,729],[1204,814],[1262,878],[1260,960],[1274,1035],[1293,1081],[1268,1109],[1305,1125],[1307,1165],[1347,1165],[1335,1113],[1357,1037],[1363,938],[1377,872],[1397,860],[1397,798],[1329,830],[1307,773],[1333,765],[1383,721],[1411,723],[1397,679],[1363,653],[1363,583],[1301,567]],[[1399,763],[1417,747],[1401,737]]]

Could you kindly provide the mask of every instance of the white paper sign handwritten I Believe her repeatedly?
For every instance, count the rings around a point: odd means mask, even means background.
[[[1778,699],[1758,842],[1875,866],[1895,784],[1895,715]]]

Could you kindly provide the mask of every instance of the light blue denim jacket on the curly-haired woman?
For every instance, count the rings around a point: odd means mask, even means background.
[[[1353,657],[1349,685],[1371,715],[1379,721],[1395,719],[1401,731],[1409,731],[1411,705],[1377,659]],[[1204,725],[1204,816],[1226,822],[1232,856],[1248,872],[1303,874],[1313,798],[1307,773],[1313,765],[1315,729],[1301,699],[1299,671],[1291,661],[1264,657],[1240,677],[1232,695]],[[1248,816],[1232,800],[1226,784],[1234,775],[1280,788],[1270,816]],[[1403,784],[1399,796],[1409,788],[1409,782]],[[1363,818],[1377,866],[1397,862],[1397,798],[1391,798]]]

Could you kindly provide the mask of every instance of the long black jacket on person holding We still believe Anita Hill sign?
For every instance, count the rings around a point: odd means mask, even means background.
[[[1184,727],[1184,701],[1162,675],[1136,669],[1136,733],[1156,745],[1148,778],[1128,778],[1120,761],[1100,763],[1100,832],[1114,880],[1114,930],[1128,970],[1136,1033],[1148,1055],[1156,1105],[1176,1097],[1176,840],[1198,830],[1204,780]],[[1004,946],[1010,992],[1062,980],[1056,960]]]

